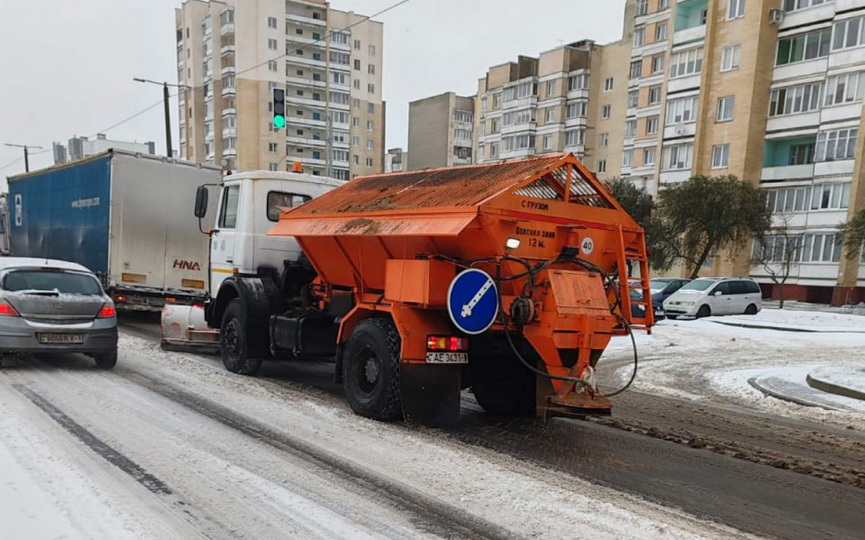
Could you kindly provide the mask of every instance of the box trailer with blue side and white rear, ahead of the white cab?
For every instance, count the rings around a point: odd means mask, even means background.
[[[218,167],[121,150],[9,177],[15,257],[81,264],[118,309],[159,311],[203,301],[208,242],[190,215]]]

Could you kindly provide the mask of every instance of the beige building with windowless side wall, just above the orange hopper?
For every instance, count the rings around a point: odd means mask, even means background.
[[[474,163],[474,96],[445,92],[412,101],[408,113],[408,170]]]

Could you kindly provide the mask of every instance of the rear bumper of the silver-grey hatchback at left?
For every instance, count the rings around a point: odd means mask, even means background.
[[[81,343],[40,343],[39,334],[75,334]],[[0,317],[0,353],[102,354],[117,350],[117,320],[47,324],[23,317]]]

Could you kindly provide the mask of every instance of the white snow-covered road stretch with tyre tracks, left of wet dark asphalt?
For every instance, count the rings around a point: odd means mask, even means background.
[[[436,536],[399,507],[370,498],[365,486],[322,469],[322,462],[450,505],[517,537],[745,536],[433,430],[360,418],[314,391],[234,376],[213,361],[150,342],[124,336],[121,351],[114,372],[84,360],[0,369],[0,536]],[[218,404],[303,450],[264,444],[167,397],[161,387],[202,407]],[[170,493],[154,494],[110,465],[35,406],[28,391]],[[309,453],[318,457],[310,460]]]

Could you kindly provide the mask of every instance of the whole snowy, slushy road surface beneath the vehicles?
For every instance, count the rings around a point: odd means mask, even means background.
[[[861,431],[659,395],[660,371],[617,400],[611,425],[496,420],[467,396],[452,433],[354,416],[329,371],[268,363],[239,377],[130,335],[113,373],[75,356],[7,362],[0,523],[28,538],[743,536],[714,521],[857,538],[865,526],[863,491],[830,478],[865,469]],[[815,462],[835,468],[820,477]]]

